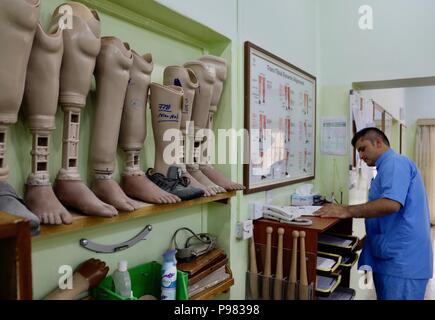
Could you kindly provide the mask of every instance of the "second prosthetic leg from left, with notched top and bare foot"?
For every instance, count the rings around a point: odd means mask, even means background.
[[[62,30],[47,34],[38,24],[24,91],[25,115],[33,135],[32,173],[27,179],[25,200],[45,224],[72,222],[71,214],[53,192],[48,173],[49,140],[55,129],[62,54]]]

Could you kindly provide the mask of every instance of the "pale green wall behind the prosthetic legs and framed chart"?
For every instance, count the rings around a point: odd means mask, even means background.
[[[42,21],[46,25],[51,12],[61,1],[42,2]],[[435,60],[428,59],[435,53],[435,37],[427,35],[430,30],[435,30],[435,20],[431,18],[435,4],[427,1],[416,1],[416,5],[410,5],[405,0],[365,1],[365,4],[374,7],[376,14],[375,29],[370,32],[363,32],[357,27],[358,7],[361,3],[355,0],[89,1],[103,7],[110,7],[111,2],[130,6],[134,8],[135,14],[145,15],[158,22],[148,24],[148,20],[138,18],[131,12],[128,13],[131,15],[129,22],[123,22],[119,19],[124,13],[121,9],[117,10],[117,17],[108,15],[107,12],[101,13],[104,35],[122,38],[139,53],[152,52],[156,63],[152,75],[154,81],[161,82],[165,66],[181,64],[205,52],[227,59],[230,64],[230,79],[225,84],[216,116],[217,127],[243,128],[243,43],[246,40],[317,77],[317,123],[322,116],[349,117],[348,92],[353,82],[427,76],[435,71]],[[424,7],[422,3],[428,7]],[[403,16],[407,18],[404,19]],[[402,29],[397,30],[396,26],[401,26]],[[421,32],[422,30],[425,32]],[[403,43],[407,45],[404,46]],[[400,50],[396,50],[397,48]],[[91,182],[87,163],[94,105],[95,92],[91,92],[83,113],[80,134],[80,172],[87,183]],[[61,110],[57,114],[56,124],[57,129],[51,141],[52,179],[60,167]],[[143,168],[153,165],[154,148],[150,129],[148,126],[146,147],[142,152]],[[317,130],[317,138],[319,134]],[[334,191],[336,197],[343,191],[343,200],[346,203],[348,157],[322,155],[319,143],[316,145],[316,179],[313,181],[315,190],[328,196]],[[411,143],[408,142],[409,148]],[[31,137],[20,118],[11,127],[8,137],[8,163],[15,165],[10,182],[20,194],[30,171],[30,149]],[[240,147],[238,152],[241,160]],[[119,178],[122,170],[122,159],[123,155],[119,152],[115,179]],[[243,181],[241,161],[238,165],[219,166],[219,169],[233,180]],[[337,172],[332,179],[331,172]],[[291,192],[297,186],[248,196],[238,193],[229,205],[197,206],[157,217],[86,229],[67,236],[35,239],[32,243],[34,297],[42,298],[56,287],[59,266],[69,264],[76,267],[94,256],[79,247],[80,238],[113,243],[133,236],[146,224],[152,224],[154,230],[147,240],[137,246],[117,254],[96,257],[106,261],[113,271],[121,258],[127,259],[130,265],[160,260],[172,233],[180,226],[187,225],[197,231],[209,231],[219,236],[220,245],[230,256],[235,277],[235,285],[229,296],[222,297],[243,299],[248,266],[248,241],[235,239],[236,222],[249,217],[250,205],[253,202],[268,200],[273,203],[288,203]]]

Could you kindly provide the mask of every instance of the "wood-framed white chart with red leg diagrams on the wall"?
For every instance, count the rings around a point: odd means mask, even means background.
[[[315,177],[316,77],[245,42],[245,194]]]

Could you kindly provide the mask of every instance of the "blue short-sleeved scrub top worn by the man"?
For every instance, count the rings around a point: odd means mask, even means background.
[[[416,165],[389,149],[376,161],[376,169],[369,201],[386,198],[402,207],[392,214],[365,219],[366,240],[358,266],[400,278],[432,278],[429,207]]]

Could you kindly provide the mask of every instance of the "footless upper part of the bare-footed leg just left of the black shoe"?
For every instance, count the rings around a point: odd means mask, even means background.
[[[151,54],[143,57],[132,50],[133,65],[124,100],[119,145],[127,155],[124,175],[143,176],[139,155],[146,138],[146,104],[154,63]]]

